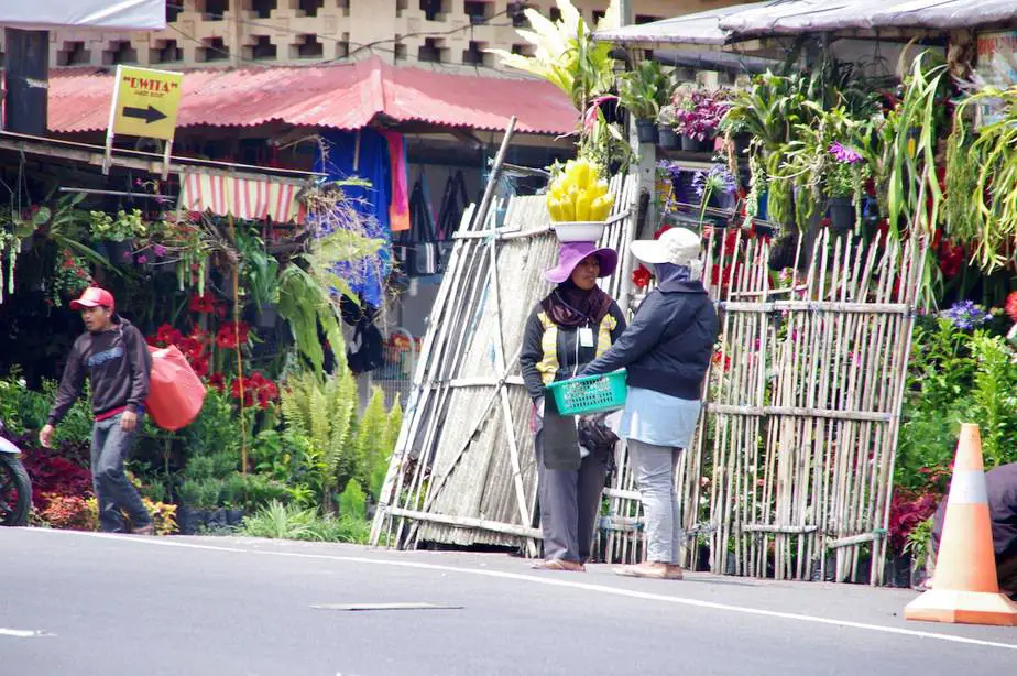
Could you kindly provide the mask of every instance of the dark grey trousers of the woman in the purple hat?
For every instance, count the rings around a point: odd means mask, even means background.
[[[600,515],[601,493],[611,461],[606,453],[591,453],[578,470],[544,467],[544,433],[534,439],[537,456],[537,497],[544,558],[581,564],[590,559]]]

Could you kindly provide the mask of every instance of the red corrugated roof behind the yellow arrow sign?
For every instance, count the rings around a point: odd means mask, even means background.
[[[113,76],[53,75],[50,130],[106,129]],[[569,133],[578,121],[568,97],[542,80],[434,73],[372,57],[329,66],[186,72],[177,126],[285,122],[352,130],[379,115],[479,130],[502,130],[514,115],[517,131],[542,134]]]

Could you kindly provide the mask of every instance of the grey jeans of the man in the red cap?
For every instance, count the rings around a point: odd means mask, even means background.
[[[119,415],[97,422],[91,430],[91,481],[99,501],[99,528],[107,533],[123,533],[121,510],[134,528],[152,523],[141,495],[123,472],[123,459],[133,440],[134,433],[121,429]]]

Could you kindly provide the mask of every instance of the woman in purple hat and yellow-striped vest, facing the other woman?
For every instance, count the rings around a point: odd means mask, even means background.
[[[573,378],[603,355],[625,330],[625,317],[597,285],[617,268],[617,253],[590,242],[566,242],[558,266],[544,276],[557,284],[529,315],[520,363],[534,402],[544,560],[536,568],[583,570],[590,558],[601,491],[612,446],[579,444],[576,421],[561,416],[548,384]]]

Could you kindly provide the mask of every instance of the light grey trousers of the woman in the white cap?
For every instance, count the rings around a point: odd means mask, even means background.
[[[681,510],[675,488],[680,448],[628,439],[632,470],[643,499],[646,559],[678,564],[681,547]]]

